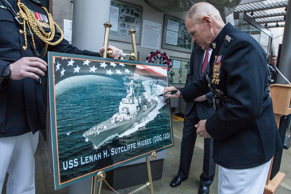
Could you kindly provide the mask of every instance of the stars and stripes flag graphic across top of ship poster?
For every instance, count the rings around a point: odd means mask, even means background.
[[[94,58],[97,60],[53,56],[55,84],[66,78],[80,75],[101,75],[107,77],[120,75],[124,77],[125,75],[137,73],[143,76],[155,75],[164,77],[164,79],[167,78],[166,67],[156,67],[152,63],[148,63],[148,65],[136,65],[128,60],[111,62],[106,61],[106,58]]]

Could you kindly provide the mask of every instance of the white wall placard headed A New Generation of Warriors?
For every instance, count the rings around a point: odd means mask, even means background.
[[[162,24],[143,19],[143,30],[141,33],[141,47],[149,49],[160,49]]]

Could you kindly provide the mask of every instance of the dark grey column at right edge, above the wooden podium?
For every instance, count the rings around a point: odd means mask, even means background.
[[[288,0],[288,5],[291,5],[291,0]],[[287,7],[286,11],[286,20],[285,20],[285,29],[283,36],[283,43],[281,47],[279,71],[291,81],[291,6]],[[287,84],[287,81],[283,79],[281,75],[277,76],[277,82],[279,84]]]

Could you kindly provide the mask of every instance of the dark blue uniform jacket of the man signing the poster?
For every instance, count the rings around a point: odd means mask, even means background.
[[[215,56],[221,56],[221,70],[219,84],[211,85],[230,98],[206,122],[214,139],[214,162],[229,169],[262,165],[282,149],[272,99],[264,90],[269,75],[266,53],[254,38],[229,23],[212,43],[210,80]],[[206,77],[180,91],[185,102],[206,94]]]

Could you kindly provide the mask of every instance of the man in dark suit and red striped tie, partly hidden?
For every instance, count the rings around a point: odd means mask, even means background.
[[[186,84],[198,81],[200,77],[205,76],[209,71],[209,60],[212,50],[201,49],[196,47],[193,49],[190,58],[190,71],[187,75]],[[208,64],[208,65],[207,65]],[[210,118],[215,110],[213,108],[212,97],[214,95],[208,92],[206,95],[198,97],[186,104],[184,112],[184,127],[180,153],[180,167],[178,175],[173,178],[170,186],[177,187],[183,180],[186,180],[189,175],[193,150],[197,137],[195,125],[204,119]],[[204,139],[204,157],[203,157],[203,172],[200,175],[200,189],[198,194],[208,194],[209,186],[212,184],[215,175],[215,163],[212,159],[213,138]]]

